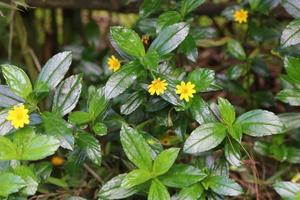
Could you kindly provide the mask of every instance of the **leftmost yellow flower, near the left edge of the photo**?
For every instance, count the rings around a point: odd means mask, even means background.
[[[8,111],[8,116],[6,117],[10,121],[13,127],[23,128],[25,124],[29,124],[28,109],[24,105],[14,106],[13,109]]]

